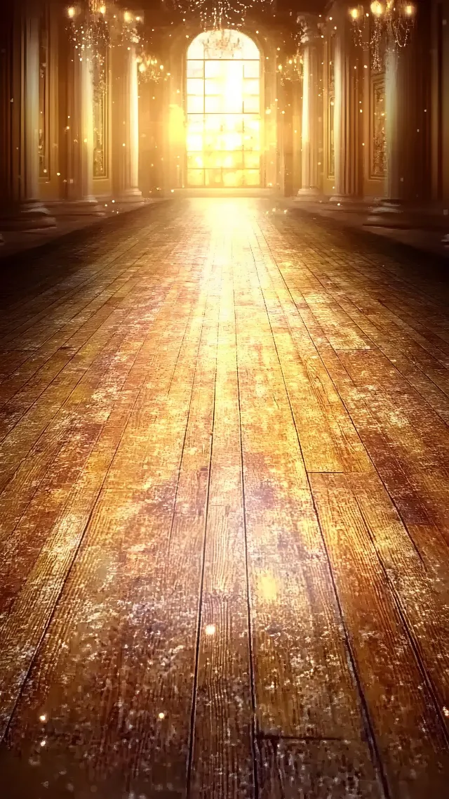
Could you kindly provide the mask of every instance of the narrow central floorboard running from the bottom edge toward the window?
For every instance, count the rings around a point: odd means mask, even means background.
[[[230,242],[216,247],[226,263]],[[230,253],[229,253],[230,255]],[[229,261],[230,262],[230,257]],[[254,797],[234,287],[223,268],[190,796]]]

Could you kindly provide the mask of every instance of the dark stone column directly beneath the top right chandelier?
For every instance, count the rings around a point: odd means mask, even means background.
[[[416,98],[413,93],[413,48],[389,42],[385,63],[386,177],[384,199],[368,225],[411,225],[408,209],[416,198]]]

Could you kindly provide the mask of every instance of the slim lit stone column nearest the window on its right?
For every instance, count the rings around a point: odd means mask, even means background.
[[[317,18],[301,14],[298,22],[305,26],[303,38],[302,125],[301,125],[301,189],[299,199],[317,197],[318,189],[318,34]]]

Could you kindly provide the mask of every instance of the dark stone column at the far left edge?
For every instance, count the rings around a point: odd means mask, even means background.
[[[37,3],[14,3],[4,14],[5,50],[10,54],[3,76],[6,147],[2,158],[1,230],[36,230],[56,224],[39,199],[39,20]],[[9,40],[8,40],[9,36]],[[12,38],[11,38],[12,37]],[[5,79],[6,78],[6,79]],[[10,97],[7,97],[7,93]],[[5,95],[5,96],[3,96]]]

